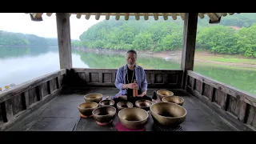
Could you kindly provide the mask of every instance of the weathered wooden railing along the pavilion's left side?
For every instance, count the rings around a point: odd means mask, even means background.
[[[25,118],[58,95],[65,84],[65,76],[66,70],[58,70],[0,91],[0,130]]]

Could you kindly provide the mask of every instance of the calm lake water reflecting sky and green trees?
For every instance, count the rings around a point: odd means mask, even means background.
[[[139,55],[138,55],[139,57]],[[118,68],[126,63],[124,56],[72,51],[73,67]],[[144,69],[178,69],[177,62],[163,58],[138,58]],[[0,47],[0,87],[16,85],[59,70],[58,47]],[[228,66],[195,63],[194,71],[219,82],[254,94],[256,97],[256,70],[238,70]]]

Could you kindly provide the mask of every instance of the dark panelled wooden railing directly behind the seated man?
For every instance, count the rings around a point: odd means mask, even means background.
[[[118,69],[70,70],[70,86],[114,86]],[[145,70],[149,88],[180,89],[182,70]]]

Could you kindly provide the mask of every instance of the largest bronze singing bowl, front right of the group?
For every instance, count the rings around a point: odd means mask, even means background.
[[[172,102],[158,102],[150,106],[150,114],[163,126],[178,126],[186,118],[186,109]]]

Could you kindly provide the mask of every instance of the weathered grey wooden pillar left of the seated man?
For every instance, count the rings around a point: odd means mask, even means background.
[[[56,13],[56,23],[60,69],[70,70],[72,67],[70,15],[68,13]]]

